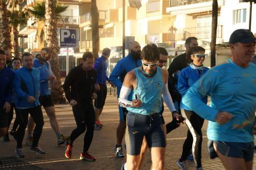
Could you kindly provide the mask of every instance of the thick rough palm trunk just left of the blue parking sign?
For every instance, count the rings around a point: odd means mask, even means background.
[[[57,86],[52,88],[52,98],[55,103],[65,103],[66,99],[63,94],[64,91],[61,87],[60,81],[60,67],[59,67],[59,44],[57,39],[57,25],[56,25],[56,14],[55,14],[55,0],[46,0],[45,2],[45,26],[46,26],[46,43],[47,47],[51,47],[53,54],[51,63],[51,69],[54,73],[57,81],[59,82]]]

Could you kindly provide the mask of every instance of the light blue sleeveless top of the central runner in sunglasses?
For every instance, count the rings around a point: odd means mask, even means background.
[[[139,68],[133,69],[136,75],[136,88],[133,90],[132,99],[136,99],[135,94],[139,95],[142,106],[129,107],[128,111],[139,114],[159,113],[162,109],[163,78],[161,68],[157,67],[157,72],[153,77],[145,77]]]

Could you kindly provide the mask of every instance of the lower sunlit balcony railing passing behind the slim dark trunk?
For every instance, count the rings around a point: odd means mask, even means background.
[[[168,41],[185,41],[189,37],[197,37],[201,40],[211,38],[211,26],[176,29],[168,34]],[[217,27],[216,38],[223,38],[223,26]]]

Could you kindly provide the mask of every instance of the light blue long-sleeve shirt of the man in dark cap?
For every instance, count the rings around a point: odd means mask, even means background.
[[[207,106],[202,98],[211,96]],[[209,120],[207,137],[214,141],[253,142],[253,124],[256,111],[256,65],[239,67],[228,59],[208,71],[187,91],[182,102]],[[220,111],[233,114],[226,124],[215,117]]]

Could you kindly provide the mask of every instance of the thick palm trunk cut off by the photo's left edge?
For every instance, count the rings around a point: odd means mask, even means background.
[[[12,49],[10,32],[7,1],[0,0],[0,46],[4,51],[10,51]]]

